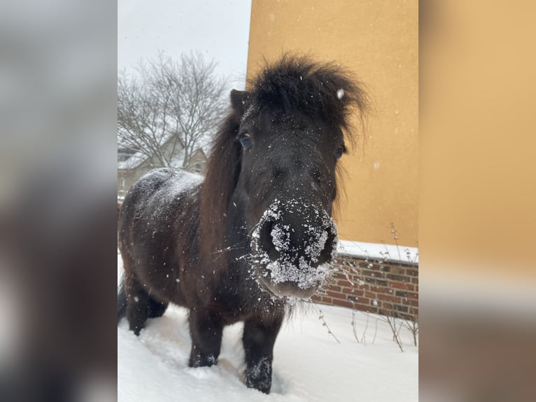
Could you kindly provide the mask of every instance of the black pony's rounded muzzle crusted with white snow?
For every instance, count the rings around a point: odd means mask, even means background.
[[[276,200],[253,230],[258,282],[276,296],[309,298],[330,271],[337,227],[323,207]]]

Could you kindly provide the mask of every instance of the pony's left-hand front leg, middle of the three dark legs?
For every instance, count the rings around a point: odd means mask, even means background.
[[[192,350],[190,367],[212,366],[218,363],[222,342],[223,324],[216,314],[190,310]]]

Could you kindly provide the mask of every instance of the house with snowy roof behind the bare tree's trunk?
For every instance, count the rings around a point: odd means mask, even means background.
[[[168,143],[169,144],[169,143]],[[174,169],[183,169],[184,150],[171,148],[168,144],[164,145],[164,152],[173,153],[171,155],[171,167]],[[190,155],[188,165],[185,170],[190,173],[205,174],[206,170],[206,153],[203,148]],[[118,148],[118,200],[122,200],[132,184],[150,170],[164,167],[162,162],[156,157],[148,158],[142,153],[136,152],[129,148]]]

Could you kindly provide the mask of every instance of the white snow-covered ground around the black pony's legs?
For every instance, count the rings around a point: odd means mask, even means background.
[[[118,258],[118,268],[120,268]],[[119,272],[119,269],[118,269]],[[328,333],[323,320],[340,343]],[[285,322],[274,348],[271,394],[248,389],[241,324],[225,328],[218,366],[189,368],[187,310],[170,306],[139,338],[118,327],[118,401],[417,401],[418,347],[402,328],[404,352],[380,316],[311,305]]]

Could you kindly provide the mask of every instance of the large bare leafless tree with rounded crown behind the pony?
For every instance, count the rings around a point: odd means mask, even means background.
[[[164,167],[181,151],[187,167],[225,113],[225,81],[215,69],[199,54],[176,62],[159,53],[136,74],[118,74],[118,145]]]

